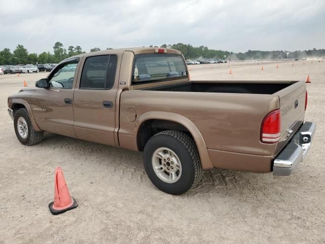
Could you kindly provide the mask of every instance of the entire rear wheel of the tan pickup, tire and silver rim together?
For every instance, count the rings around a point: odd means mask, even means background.
[[[144,148],[144,167],[159,190],[181,195],[202,178],[202,166],[194,140],[181,131],[168,130],[151,137]]]

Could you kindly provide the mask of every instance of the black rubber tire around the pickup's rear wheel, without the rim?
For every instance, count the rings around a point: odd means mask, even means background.
[[[152,166],[152,155],[159,147],[167,147],[178,156],[182,173],[174,183],[161,180]],[[195,187],[201,180],[203,171],[194,140],[181,131],[168,130],[152,136],[144,148],[144,167],[153,185],[159,190],[172,194],[181,195]]]

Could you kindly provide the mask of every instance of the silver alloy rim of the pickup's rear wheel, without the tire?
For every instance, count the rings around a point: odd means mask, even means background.
[[[178,156],[170,148],[157,148],[152,155],[151,162],[153,171],[164,182],[173,184],[180,179],[182,165]]]

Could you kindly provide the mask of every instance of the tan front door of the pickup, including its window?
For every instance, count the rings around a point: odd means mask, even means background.
[[[60,64],[48,77],[48,88],[32,94],[31,111],[41,130],[76,137],[73,129],[73,95],[79,58]],[[79,68],[79,67],[78,67]]]

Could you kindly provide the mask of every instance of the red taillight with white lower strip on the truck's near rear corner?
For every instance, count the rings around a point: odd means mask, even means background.
[[[261,141],[264,143],[276,143],[280,139],[281,112],[280,109],[269,113],[263,120],[261,128]]]

